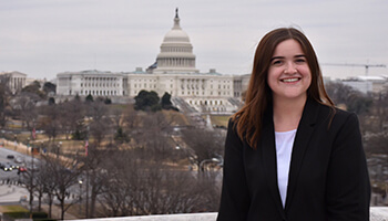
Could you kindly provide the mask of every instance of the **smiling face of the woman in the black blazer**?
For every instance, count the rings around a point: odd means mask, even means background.
[[[267,83],[274,99],[306,98],[312,83],[312,72],[297,41],[285,40],[275,48],[268,69]]]

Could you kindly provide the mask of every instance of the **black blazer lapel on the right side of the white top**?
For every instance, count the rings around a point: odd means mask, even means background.
[[[318,112],[319,112],[319,104],[308,98],[298,125],[298,129],[296,131],[295,140],[294,140],[294,147],[293,147],[292,160],[290,160],[289,173],[288,173],[288,187],[287,187],[287,197],[286,197],[286,207],[285,207],[286,210],[294,197],[294,190],[296,187],[300,167],[303,165],[303,159],[304,159],[306,149],[308,148],[310,136],[314,131],[314,126],[317,120]]]

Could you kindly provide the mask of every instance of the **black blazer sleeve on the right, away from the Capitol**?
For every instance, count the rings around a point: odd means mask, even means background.
[[[367,221],[370,182],[366,157],[358,118],[356,114],[346,116],[345,123],[336,131],[327,171],[328,220]]]

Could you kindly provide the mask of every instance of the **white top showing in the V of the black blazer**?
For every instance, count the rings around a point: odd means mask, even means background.
[[[286,204],[289,162],[293,152],[296,129],[289,131],[275,131],[277,182],[282,197],[283,207]]]

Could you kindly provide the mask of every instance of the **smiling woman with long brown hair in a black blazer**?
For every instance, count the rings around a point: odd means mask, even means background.
[[[335,108],[314,49],[296,29],[259,42],[224,160],[218,221],[369,220],[357,116]]]

